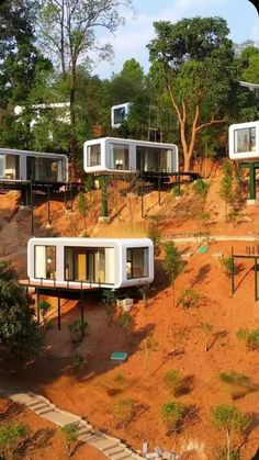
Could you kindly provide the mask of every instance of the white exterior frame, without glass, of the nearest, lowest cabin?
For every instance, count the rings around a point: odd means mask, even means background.
[[[114,284],[100,284],[114,289],[151,283],[154,280],[154,245],[149,238],[31,238],[27,242],[27,277],[31,281],[37,282],[34,277],[34,247],[35,246],[56,247],[56,282],[65,280],[65,247],[106,247],[114,248]],[[127,248],[148,248],[148,277],[138,279],[127,279],[126,277],[126,249]],[[112,262],[112,258],[110,259]],[[44,284],[53,285],[53,280],[44,280]],[[69,281],[69,284],[78,284],[79,281]],[[83,284],[89,284],[88,282]],[[92,283],[94,285],[94,283]]]

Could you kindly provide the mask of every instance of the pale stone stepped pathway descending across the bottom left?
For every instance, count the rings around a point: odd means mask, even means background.
[[[143,457],[131,450],[121,439],[104,435],[93,429],[92,425],[80,416],[59,409],[46,397],[29,392],[23,393],[19,389],[10,390],[0,388],[0,396],[10,397],[16,403],[24,404],[31,411],[56,425],[65,426],[77,424],[79,426],[78,439],[101,450],[111,460],[142,460]]]

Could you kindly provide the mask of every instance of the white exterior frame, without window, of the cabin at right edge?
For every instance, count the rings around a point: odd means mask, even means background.
[[[256,149],[254,152],[235,153],[235,131],[256,127]],[[230,159],[259,160],[259,121],[233,124],[228,128],[228,154]]]

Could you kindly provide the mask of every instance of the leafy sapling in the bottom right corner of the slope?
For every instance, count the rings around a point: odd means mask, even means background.
[[[226,435],[226,459],[230,460],[233,451],[233,436],[240,435],[249,425],[249,417],[238,407],[219,404],[212,408],[212,419],[216,429],[224,430]]]

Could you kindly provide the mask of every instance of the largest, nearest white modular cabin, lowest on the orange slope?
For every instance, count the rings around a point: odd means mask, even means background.
[[[126,288],[154,280],[149,238],[31,238],[30,282],[46,287]]]

